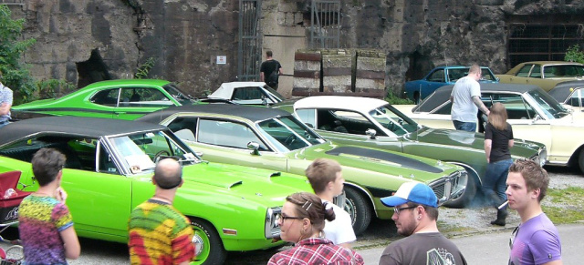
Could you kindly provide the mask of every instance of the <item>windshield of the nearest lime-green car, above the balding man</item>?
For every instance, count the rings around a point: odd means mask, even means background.
[[[182,165],[201,161],[178,138],[164,131],[114,137],[110,142],[120,156],[121,165],[134,174],[153,170],[155,162],[162,158],[174,158]]]

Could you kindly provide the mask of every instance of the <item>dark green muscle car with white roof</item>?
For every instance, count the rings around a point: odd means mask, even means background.
[[[284,109],[313,127],[329,140],[348,145],[383,148],[433,158],[462,166],[468,178],[464,195],[447,206],[468,205],[486,178],[485,136],[464,131],[422,127],[387,101],[370,97],[321,96],[285,101]],[[514,158],[532,158],[543,165],[547,158],[543,144],[516,141]]]

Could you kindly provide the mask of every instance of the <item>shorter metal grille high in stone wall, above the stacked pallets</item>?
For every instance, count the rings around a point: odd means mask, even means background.
[[[310,47],[339,48],[340,0],[312,0]]]

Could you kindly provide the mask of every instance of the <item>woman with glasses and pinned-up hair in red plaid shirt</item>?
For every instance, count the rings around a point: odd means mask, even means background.
[[[295,247],[276,253],[267,262],[271,264],[364,264],[354,250],[334,245],[325,239],[325,219],[335,219],[333,209],[326,202],[308,192],[294,193],[286,198],[278,220],[281,238],[295,243]]]

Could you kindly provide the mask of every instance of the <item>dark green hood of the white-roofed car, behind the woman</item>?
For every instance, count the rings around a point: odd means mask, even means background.
[[[417,132],[403,136],[403,138],[409,141],[485,150],[484,134],[461,130],[423,127]],[[537,151],[544,147],[543,144],[516,139],[513,148],[511,148],[511,155],[530,158],[536,154],[534,150]]]

